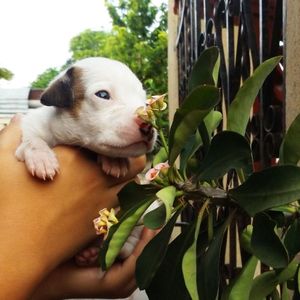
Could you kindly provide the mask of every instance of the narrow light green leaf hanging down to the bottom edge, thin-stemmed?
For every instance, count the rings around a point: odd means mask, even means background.
[[[201,207],[199,212],[195,234],[194,234],[194,242],[185,252],[182,259],[182,273],[185,282],[185,286],[188,289],[192,300],[199,300],[198,288],[197,288],[197,244],[200,226],[203,220],[204,212],[207,208],[208,202]]]

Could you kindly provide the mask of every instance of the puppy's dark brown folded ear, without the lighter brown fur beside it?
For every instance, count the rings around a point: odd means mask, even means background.
[[[74,97],[74,67],[54,81],[42,94],[41,103],[47,106],[72,107]]]

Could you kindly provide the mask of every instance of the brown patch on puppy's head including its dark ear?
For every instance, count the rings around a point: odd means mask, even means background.
[[[70,68],[46,89],[41,96],[41,103],[47,106],[77,110],[77,102],[84,98],[84,89],[80,79],[81,69]]]

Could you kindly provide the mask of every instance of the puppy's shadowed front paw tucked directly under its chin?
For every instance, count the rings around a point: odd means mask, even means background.
[[[101,156],[102,170],[113,177],[124,177],[129,171],[129,161],[127,158],[112,158]]]

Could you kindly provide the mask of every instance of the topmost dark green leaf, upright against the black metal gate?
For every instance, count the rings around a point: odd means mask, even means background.
[[[195,87],[203,84],[214,85],[213,75],[217,72],[216,63],[219,58],[219,49],[210,47],[205,49],[193,66],[189,81],[188,90],[192,91]]]

